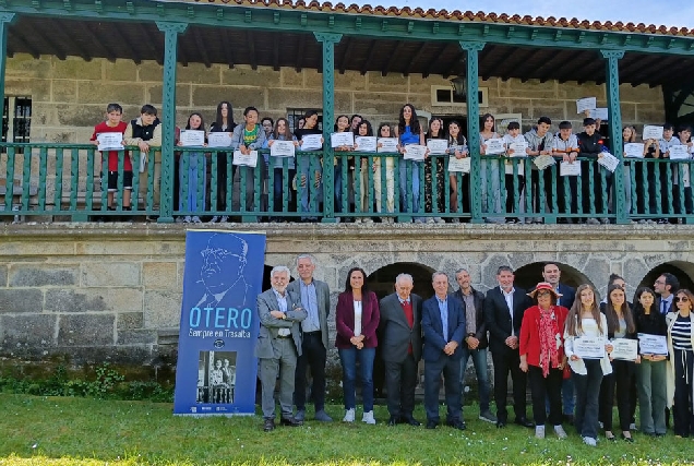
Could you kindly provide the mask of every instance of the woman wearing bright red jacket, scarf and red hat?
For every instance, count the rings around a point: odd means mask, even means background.
[[[564,322],[569,310],[557,306],[559,292],[547,282],[537,284],[528,294],[536,304],[526,309],[520,325],[518,340],[520,350],[520,370],[528,373],[533,392],[533,417],[535,437],[545,438],[545,422],[554,426],[560,439],[566,438],[562,428],[562,379],[566,356],[563,348]],[[549,419],[545,401],[549,397]]]

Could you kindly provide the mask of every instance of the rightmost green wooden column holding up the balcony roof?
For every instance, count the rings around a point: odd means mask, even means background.
[[[624,163],[622,144],[622,110],[620,108],[620,67],[619,60],[624,57],[622,50],[600,50],[606,59],[606,87],[608,99],[608,111],[610,116],[610,141],[612,142],[612,154]],[[614,189],[614,213],[618,224],[627,224],[626,198],[624,195],[624,179],[622,166],[617,167],[613,177]]]

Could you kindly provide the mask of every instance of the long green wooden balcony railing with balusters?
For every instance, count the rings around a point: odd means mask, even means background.
[[[172,188],[159,193],[154,189],[159,186],[157,154],[149,154],[145,171],[139,174],[140,151],[125,147],[119,152],[118,172],[123,174],[128,153],[135,170],[131,210],[123,203],[123,176],[118,177],[109,210],[108,156],[94,145],[0,147],[0,216],[5,220],[157,217],[166,205],[175,218],[202,220],[227,216],[242,222],[694,222],[694,160],[626,159],[610,174],[596,159],[579,158],[582,176],[560,177],[559,164],[540,171],[531,158],[503,156],[474,156],[470,174],[460,174],[448,172],[447,156],[411,163],[399,154],[327,151],[334,162],[324,163],[324,152],[274,158],[261,151],[256,166],[246,167],[232,165],[228,148],[176,147],[175,159],[163,159],[160,171],[167,172],[169,164]],[[322,182],[326,167],[333,167],[330,190]],[[615,186],[624,188],[618,192]]]

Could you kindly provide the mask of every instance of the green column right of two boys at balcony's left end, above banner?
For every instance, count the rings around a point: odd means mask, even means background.
[[[174,223],[174,135],[176,132],[176,56],[178,35],[188,27],[186,23],[157,21],[164,33],[164,85],[161,88],[161,198],[159,223]]]

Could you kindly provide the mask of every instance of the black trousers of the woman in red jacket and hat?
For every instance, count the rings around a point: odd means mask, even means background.
[[[537,426],[545,426],[549,420],[551,426],[562,423],[562,382],[564,371],[550,369],[547,377],[542,375],[542,368],[528,366],[528,382],[533,392],[533,417]],[[549,398],[550,413],[547,416],[546,399]]]

